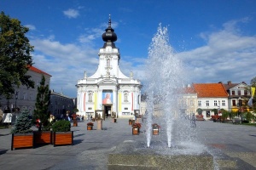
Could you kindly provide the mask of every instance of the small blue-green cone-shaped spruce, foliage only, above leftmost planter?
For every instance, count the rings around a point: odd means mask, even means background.
[[[22,111],[11,133],[32,133],[32,116],[28,111]]]

